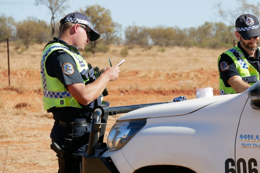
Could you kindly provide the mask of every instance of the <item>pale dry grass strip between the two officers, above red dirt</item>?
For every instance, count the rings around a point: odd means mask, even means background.
[[[173,71],[185,70],[217,70],[217,58],[225,49],[209,50],[202,48],[165,48],[164,52],[158,51],[155,46],[150,50],[144,48],[133,48],[128,50],[128,56],[120,57],[120,50],[124,46],[110,46],[109,53],[97,53],[95,56],[87,57],[89,62],[96,62],[95,66],[108,66],[107,58],[110,57],[112,64],[116,65],[125,59],[122,70],[126,71]]]

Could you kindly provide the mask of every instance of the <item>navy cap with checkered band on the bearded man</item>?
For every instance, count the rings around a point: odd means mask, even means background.
[[[260,36],[259,21],[252,14],[243,14],[236,19],[236,31],[243,39]]]

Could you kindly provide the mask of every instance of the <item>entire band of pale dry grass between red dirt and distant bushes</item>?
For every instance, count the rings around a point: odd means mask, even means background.
[[[45,44],[33,45],[26,51],[21,51],[22,47],[17,49],[15,45],[9,43],[9,57],[11,70],[40,70],[40,57]],[[0,43],[2,50],[7,50],[5,43]],[[125,59],[122,70],[144,70],[158,71],[166,70],[217,70],[217,57],[226,51],[223,49],[203,49],[203,48],[184,48],[172,47],[160,51],[160,47],[154,46],[151,49],[135,47],[128,50],[128,56],[120,56],[124,45],[110,45],[108,53],[96,53],[95,55],[82,53],[83,57],[93,66],[109,66],[107,58],[110,57],[112,64],[116,65],[122,59]],[[0,70],[7,70],[7,51],[0,52]],[[18,71],[17,71],[18,72]]]

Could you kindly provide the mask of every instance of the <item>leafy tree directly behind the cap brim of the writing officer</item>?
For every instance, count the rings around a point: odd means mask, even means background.
[[[100,39],[90,42],[91,46],[87,48],[93,54],[97,43],[104,41],[106,44],[110,44],[117,33],[115,28],[121,29],[121,25],[113,22],[110,11],[100,5],[87,6],[86,10],[81,10],[81,13],[89,18],[91,27],[101,34]]]

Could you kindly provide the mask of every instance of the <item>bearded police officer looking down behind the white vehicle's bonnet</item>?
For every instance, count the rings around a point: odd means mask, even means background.
[[[236,19],[237,45],[218,58],[220,95],[241,93],[259,80],[258,19],[243,14]]]

